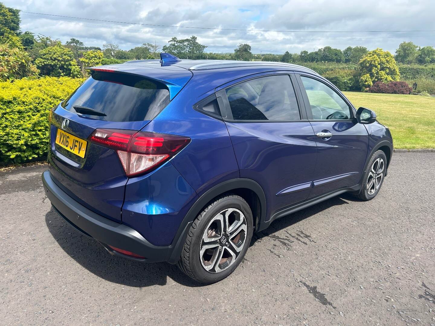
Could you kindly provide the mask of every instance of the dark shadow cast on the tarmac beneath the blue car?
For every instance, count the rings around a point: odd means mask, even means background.
[[[288,228],[332,206],[348,204],[346,200],[357,201],[351,195],[344,194],[289,216],[282,217],[274,221],[267,230],[254,234],[251,246],[261,238]],[[169,276],[175,282],[185,286],[202,286],[185,276],[175,265],[168,263],[142,263],[110,255],[99,243],[74,230],[53,209],[46,214],[45,220],[51,235],[71,258],[91,273],[109,282],[125,286],[146,287],[165,285]]]

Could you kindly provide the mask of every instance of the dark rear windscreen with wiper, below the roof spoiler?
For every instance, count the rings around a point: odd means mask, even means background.
[[[169,101],[169,90],[163,83],[137,75],[94,71],[62,107],[76,113],[80,106],[77,114],[98,120],[143,121],[152,120]],[[83,107],[105,116],[88,114]]]

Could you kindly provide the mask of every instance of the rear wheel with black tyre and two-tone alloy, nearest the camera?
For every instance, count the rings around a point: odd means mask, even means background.
[[[192,223],[178,267],[198,282],[218,282],[240,264],[252,233],[248,203],[234,194],[220,196]]]

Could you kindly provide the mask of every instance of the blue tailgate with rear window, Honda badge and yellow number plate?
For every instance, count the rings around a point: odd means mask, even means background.
[[[127,176],[115,150],[91,143],[94,130],[140,130],[170,101],[147,77],[94,71],[51,113],[49,162],[55,182],[75,200],[121,221]]]

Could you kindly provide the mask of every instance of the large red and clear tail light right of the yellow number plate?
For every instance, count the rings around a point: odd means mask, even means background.
[[[116,129],[96,129],[89,140],[116,150],[127,176],[156,169],[191,141],[183,136]]]

